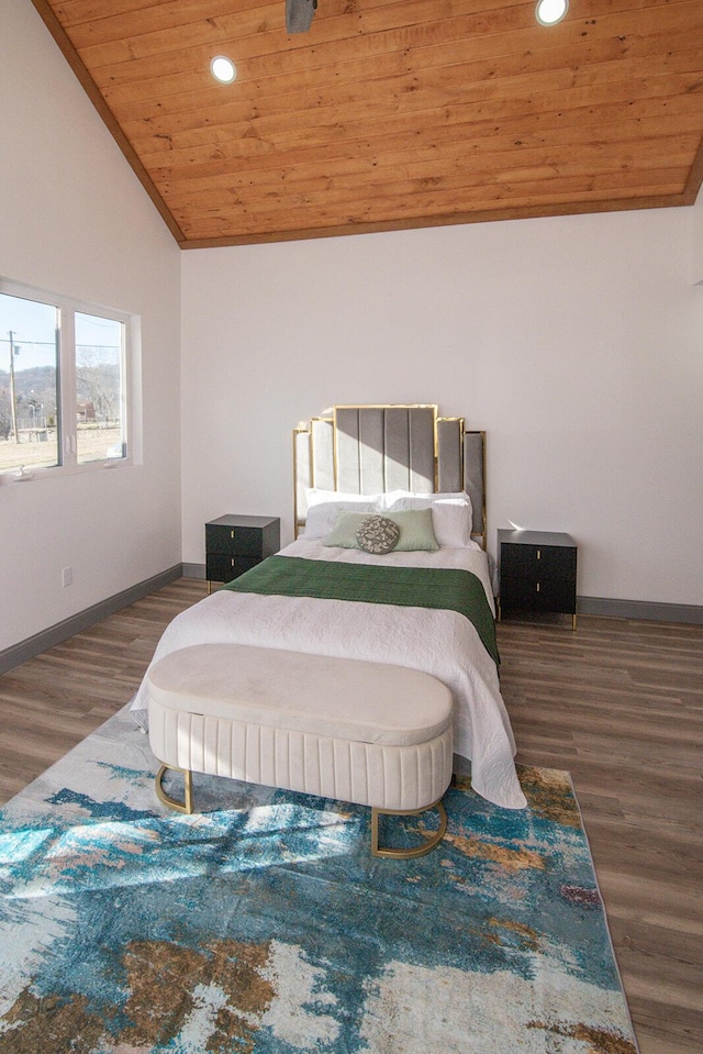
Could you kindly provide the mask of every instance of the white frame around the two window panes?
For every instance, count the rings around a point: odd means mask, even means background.
[[[140,356],[141,319],[130,312],[107,308],[102,304],[76,300],[60,293],[49,292],[34,286],[25,286],[10,278],[0,277],[0,292],[23,300],[34,300],[37,303],[55,307],[59,312],[60,323],[57,329],[57,363],[56,363],[56,408],[58,415],[58,465],[47,465],[32,468],[29,475],[32,478],[55,477],[74,473],[101,471],[102,469],[120,469],[125,466],[141,464],[141,434],[142,422],[138,408],[141,407],[137,390],[137,360]],[[76,400],[76,314],[88,314],[94,318],[107,319],[122,323],[122,379],[120,392],[120,412],[122,423],[123,445],[126,447],[122,457],[101,458],[82,464],[78,463],[78,429]],[[0,477],[18,476],[15,468],[0,468]]]

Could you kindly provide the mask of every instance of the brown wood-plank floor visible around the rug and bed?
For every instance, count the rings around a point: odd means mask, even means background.
[[[181,579],[0,677],[0,801],[129,701]],[[703,625],[499,625],[517,761],[568,769],[641,1054],[703,1051]],[[506,1054],[506,1052],[496,1052]]]

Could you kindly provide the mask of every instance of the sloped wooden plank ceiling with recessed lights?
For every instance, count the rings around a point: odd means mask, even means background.
[[[33,0],[185,247],[691,204],[703,0]],[[210,59],[227,55],[231,85]]]

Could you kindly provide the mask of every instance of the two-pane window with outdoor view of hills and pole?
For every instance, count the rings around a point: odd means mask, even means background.
[[[0,473],[129,459],[134,323],[0,280]]]

